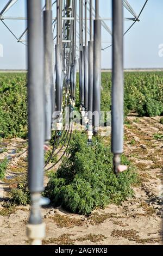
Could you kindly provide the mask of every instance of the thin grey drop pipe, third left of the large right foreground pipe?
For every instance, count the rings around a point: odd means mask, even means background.
[[[88,93],[89,93],[89,59],[88,59],[88,45],[87,45],[87,0],[85,0],[85,46],[84,51],[84,107],[85,112],[88,110]]]

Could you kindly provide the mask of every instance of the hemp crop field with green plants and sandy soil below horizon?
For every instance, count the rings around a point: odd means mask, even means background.
[[[79,86],[77,81],[77,100]],[[79,102],[76,102],[79,108]],[[101,110],[111,109],[111,73],[102,73]],[[163,174],[163,72],[124,73],[124,154],[112,172],[110,136],[73,132],[65,157],[45,172],[44,245],[159,245]],[[53,144],[53,142],[52,142]],[[51,147],[52,147],[51,144]],[[47,167],[59,160],[65,147]],[[45,153],[45,161],[49,153]],[[0,241],[28,245],[27,74],[0,74]]]

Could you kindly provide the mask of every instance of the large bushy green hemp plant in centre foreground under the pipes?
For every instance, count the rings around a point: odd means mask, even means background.
[[[122,163],[129,168],[116,176],[110,145],[105,146],[101,138],[93,138],[92,146],[88,147],[87,136],[77,132],[68,153],[70,156],[65,157],[57,172],[51,172],[44,192],[55,206],[88,215],[93,209],[120,204],[133,196],[131,185],[137,182],[134,168],[122,156]]]

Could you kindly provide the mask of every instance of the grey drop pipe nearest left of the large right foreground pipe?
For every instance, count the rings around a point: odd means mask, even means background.
[[[99,130],[101,109],[101,20],[99,20],[99,0],[96,0],[96,18],[94,21],[93,47],[93,131]]]

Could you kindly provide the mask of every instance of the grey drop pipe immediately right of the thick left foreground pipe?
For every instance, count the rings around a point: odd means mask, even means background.
[[[52,0],[46,0],[46,10],[43,11],[44,38],[44,86],[45,86],[45,144],[51,139],[52,127],[52,92],[53,80],[53,34],[52,34]]]

